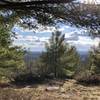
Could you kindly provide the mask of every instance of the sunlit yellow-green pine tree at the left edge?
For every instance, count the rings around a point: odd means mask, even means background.
[[[24,68],[24,51],[12,45],[11,32],[0,27],[0,77],[10,80]]]

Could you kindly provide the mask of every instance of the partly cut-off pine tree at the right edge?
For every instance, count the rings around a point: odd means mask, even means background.
[[[78,73],[76,79],[85,83],[100,82],[100,45],[91,49],[86,66],[81,73]]]

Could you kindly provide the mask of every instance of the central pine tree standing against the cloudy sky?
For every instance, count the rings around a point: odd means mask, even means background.
[[[65,42],[65,35],[59,31],[52,33],[49,43],[46,43],[42,60],[48,73],[54,73],[56,78],[73,75],[79,65],[76,49]]]

